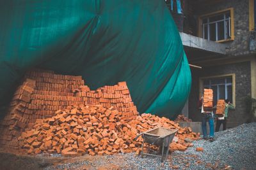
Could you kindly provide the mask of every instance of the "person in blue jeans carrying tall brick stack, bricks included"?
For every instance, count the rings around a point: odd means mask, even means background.
[[[198,108],[201,110],[202,115],[202,131],[203,139],[207,140],[207,125],[206,122],[209,122],[209,141],[214,141],[214,115],[212,111],[212,89],[204,89],[204,94],[198,101]]]

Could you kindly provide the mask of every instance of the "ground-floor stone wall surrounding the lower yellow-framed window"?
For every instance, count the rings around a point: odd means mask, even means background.
[[[250,62],[240,62],[221,66],[203,67],[203,69],[191,69],[192,85],[189,96],[189,118],[193,121],[201,121],[200,110],[197,108],[199,97],[199,78],[220,74],[236,74],[236,110],[230,110],[227,127],[236,127],[243,124],[248,118],[246,113],[246,96],[251,95],[251,67]]]

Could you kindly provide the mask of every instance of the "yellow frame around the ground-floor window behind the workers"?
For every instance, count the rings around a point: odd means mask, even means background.
[[[228,76],[232,77],[232,104],[236,106],[236,74],[220,74],[214,76],[205,76],[199,78],[199,99],[204,92],[204,80],[205,79],[213,79],[213,78],[227,78]],[[225,89],[226,90],[226,89]]]

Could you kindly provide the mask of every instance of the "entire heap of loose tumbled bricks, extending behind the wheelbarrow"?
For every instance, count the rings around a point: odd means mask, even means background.
[[[68,106],[56,111],[56,116],[36,121],[33,129],[22,132],[19,141],[21,151],[29,154],[61,153],[65,157],[90,155],[112,155],[141,151],[142,138],[133,141],[140,133],[154,127],[178,129],[177,142],[170,150],[184,151],[191,143],[185,138],[198,139],[199,134],[191,128],[181,128],[168,118],[142,114],[136,119],[122,120],[122,113],[101,105]],[[157,146],[152,146],[157,149]]]

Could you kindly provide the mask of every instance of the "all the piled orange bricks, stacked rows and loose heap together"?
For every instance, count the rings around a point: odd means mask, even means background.
[[[171,151],[192,146],[185,138],[199,138],[168,118],[138,115],[125,82],[90,90],[81,76],[37,69],[26,74],[0,122],[0,146],[64,156],[140,153],[142,138],[133,139],[157,126],[179,130]]]

